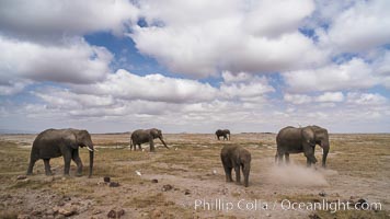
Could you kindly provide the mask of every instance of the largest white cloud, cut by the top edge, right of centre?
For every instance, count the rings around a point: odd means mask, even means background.
[[[289,10],[291,5],[299,10]],[[134,26],[128,36],[140,53],[195,78],[217,76],[221,70],[277,72],[326,59],[298,31],[312,11],[310,0],[276,5],[239,0],[142,1],[140,14],[148,25]]]

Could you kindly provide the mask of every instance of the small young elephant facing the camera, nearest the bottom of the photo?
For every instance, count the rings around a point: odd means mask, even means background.
[[[240,184],[240,169],[244,176],[244,186],[249,185],[249,172],[251,171],[251,153],[241,146],[225,146],[220,151],[223,164],[226,182],[232,182],[231,170],[236,172],[236,183]]]

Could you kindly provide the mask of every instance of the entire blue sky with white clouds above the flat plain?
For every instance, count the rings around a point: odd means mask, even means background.
[[[1,1],[0,129],[389,132],[389,9],[386,0]]]

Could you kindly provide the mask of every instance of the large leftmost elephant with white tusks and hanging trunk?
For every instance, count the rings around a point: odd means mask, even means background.
[[[42,131],[34,140],[31,149],[30,165],[27,175],[33,174],[34,164],[43,159],[46,175],[53,175],[50,170],[50,159],[64,157],[64,174],[69,175],[70,160],[77,164],[77,175],[82,174],[82,162],[79,155],[79,147],[85,147],[90,151],[90,177],[93,168],[93,143],[87,130],[79,129],[47,129]]]

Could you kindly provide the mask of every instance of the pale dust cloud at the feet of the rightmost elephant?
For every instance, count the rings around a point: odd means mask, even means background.
[[[272,184],[294,186],[328,186],[325,170],[307,168],[298,164],[273,165],[266,174]]]

